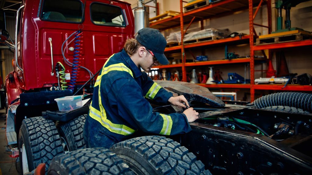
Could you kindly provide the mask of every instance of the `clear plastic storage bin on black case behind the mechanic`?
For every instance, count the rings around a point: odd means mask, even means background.
[[[67,96],[54,99],[59,111],[71,111],[82,106],[82,95]]]

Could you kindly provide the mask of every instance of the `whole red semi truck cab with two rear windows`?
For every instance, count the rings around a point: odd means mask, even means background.
[[[130,4],[119,0],[24,0],[17,15],[14,71],[5,82],[8,105],[23,92],[57,89],[58,62],[66,86],[86,82],[134,34]],[[73,72],[73,62],[89,71]]]

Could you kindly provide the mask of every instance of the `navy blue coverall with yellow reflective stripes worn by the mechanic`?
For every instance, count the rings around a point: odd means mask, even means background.
[[[95,82],[84,126],[87,146],[110,148],[131,138],[137,130],[161,135],[189,132],[191,127],[185,114],[152,112],[146,100],[165,105],[172,96],[142,73],[124,50],[113,54]]]

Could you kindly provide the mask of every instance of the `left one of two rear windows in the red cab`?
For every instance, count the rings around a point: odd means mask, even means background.
[[[83,4],[79,0],[44,0],[41,20],[56,22],[82,22]]]

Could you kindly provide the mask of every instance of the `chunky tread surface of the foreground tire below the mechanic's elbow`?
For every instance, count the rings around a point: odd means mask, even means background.
[[[202,174],[205,171],[203,163],[196,161],[193,153],[189,153],[178,142],[163,136],[129,139],[113,145],[110,149],[118,156],[119,148],[132,149],[144,157],[158,174]]]

